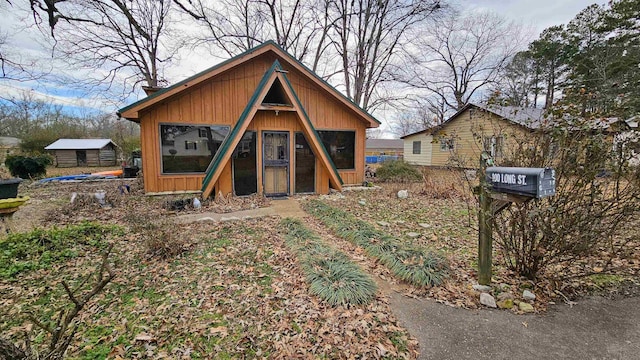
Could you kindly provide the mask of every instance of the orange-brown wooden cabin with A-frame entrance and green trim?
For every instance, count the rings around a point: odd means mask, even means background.
[[[269,41],[119,110],[147,193],[328,193],[364,181],[373,116]]]

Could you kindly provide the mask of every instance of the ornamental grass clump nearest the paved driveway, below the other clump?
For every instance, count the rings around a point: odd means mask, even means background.
[[[331,306],[368,304],[376,284],[345,254],[324,244],[299,220],[284,219],[287,245],[300,257],[309,290]]]

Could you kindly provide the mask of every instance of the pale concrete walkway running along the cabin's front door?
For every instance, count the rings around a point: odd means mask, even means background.
[[[294,198],[278,200],[272,199],[271,206],[266,208],[242,210],[224,214],[214,212],[201,212],[196,214],[180,215],[177,217],[177,222],[192,223],[197,221],[237,221],[275,215],[279,215],[283,218],[303,218],[305,216],[305,212],[300,207],[298,201]]]

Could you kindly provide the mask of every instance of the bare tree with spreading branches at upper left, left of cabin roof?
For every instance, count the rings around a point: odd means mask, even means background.
[[[170,32],[171,0],[30,0],[38,23],[47,19],[55,50],[73,65],[94,69],[93,84],[122,81],[157,87],[179,41]],[[118,77],[121,76],[121,77]],[[130,84],[130,82],[133,82]]]

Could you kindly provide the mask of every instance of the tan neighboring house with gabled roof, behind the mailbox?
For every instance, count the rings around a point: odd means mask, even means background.
[[[543,114],[543,109],[470,103],[438,126],[403,136],[405,159],[417,165],[475,168],[483,150],[499,160],[518,138],[546,124]]]

